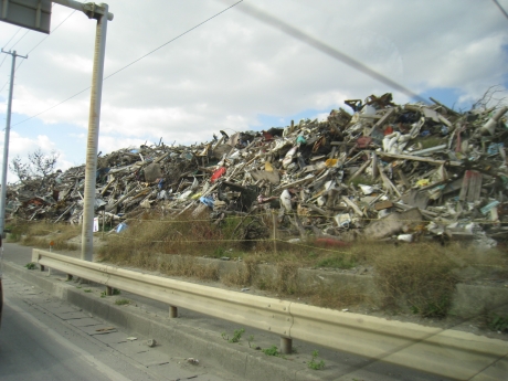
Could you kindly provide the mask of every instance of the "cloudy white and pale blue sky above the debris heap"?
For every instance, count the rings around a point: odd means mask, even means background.
[[[322,119],[334,108],[350,112],[345,99],[371,94],[414,102],[266,14],[457,110],[490,86],[508,96],[508,18],[494,1],[244,0],[227,9],[236,1],[107,2],[115,17],[104,74],[113,75],[103,85],[99,151]],[[508,0],[498,2],[508,11]],[[39,148],[56,151],[61,169],[85,162],[95,29],[95,20],[60,4],[49,35],[0,22],[0,46],[29,53],[17,61],[9,162]],[[10,67],[11,56],[0,54],[2,148]]]

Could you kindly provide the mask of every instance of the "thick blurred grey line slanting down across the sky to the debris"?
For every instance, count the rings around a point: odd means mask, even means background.
[[[414,99],[417,99],[420,102],[423,102],[423,103],[428,103],[426,99],[422,98],[420,95],[417,95],[416,93],[414,93],[413,91],[409,89],[408,87],[399,84],[398,82],[389,78],[388,76],[374,71],[373,68],[370,68],[369,66],[367,66],[366,64],[363,64],[362,62],[353,59],[352,56],[339,51],[338,49],[331,46],[331,45],[328,45],[319,40],[317,40],[316,38],[311,36],[310,34],[307,34],[306,32],[303,32],[298,29],[296,29],[295,27],[286,23],[285,21],[281,20],[281,19],[277,19],[276,17],[269,14],[269,13],[266,13],[265,11],[258,9],[258,8],[255,8],[248,3],[245,3],[243,4],[242,8],[239,8],[239,10],[241,10],[242,12],[248,14],[250,17],[254,18],[254,19],[257,19],[260,20],[261,22],[269,25],[269,27],[273,27],[275,29],[278,29],[279,31],[290,35],[292,38],[298,40],[298,41],[301,41],[304,43],[306,43],[307,45],[309,46],[313,46],[314,49],[320,51],[321,53],[325,53],[329,56],[331,56],[332,59],[335,60],[338,60],[342,63],[345,63],[346,65],[370,76],[371,78],[375,80],[375,81],[379,81],[390,87],[392,87],[393,89],[396,89],[405,95],[408,95],[409,97],[411,98],[414,98]]]

